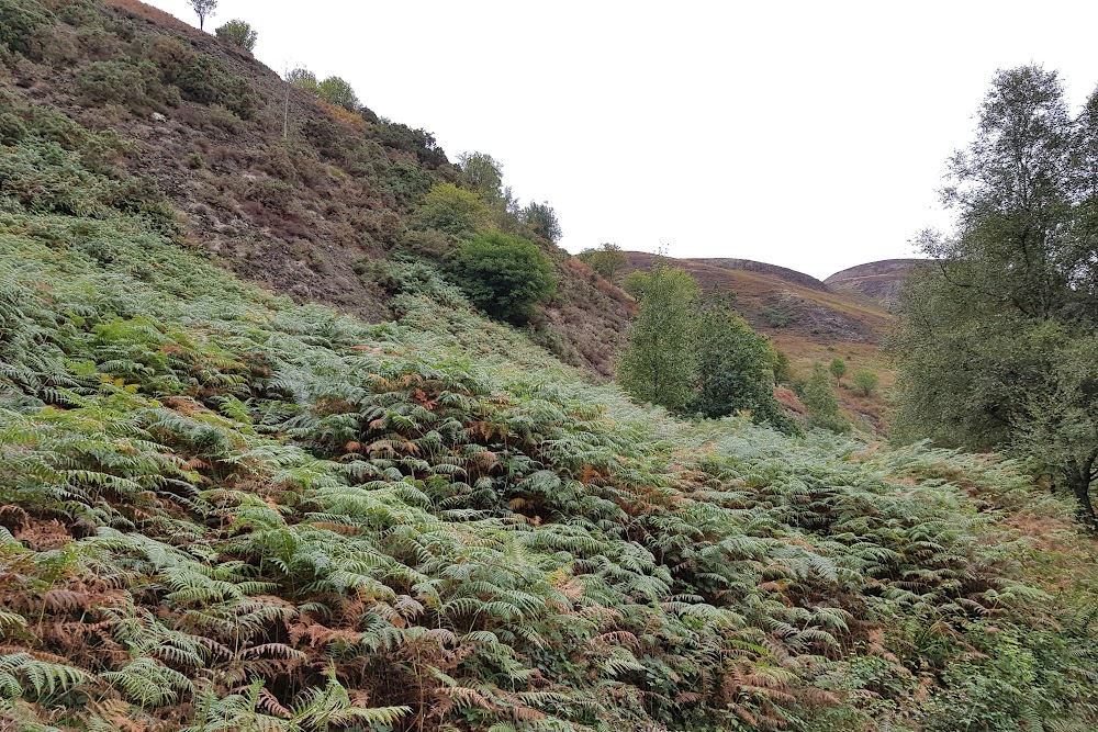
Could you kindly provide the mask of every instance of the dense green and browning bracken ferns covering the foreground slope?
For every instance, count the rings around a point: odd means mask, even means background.
[[[1095,551],[1015,465],[672,420],[422,262],[394,323],[295,305],[4,114],[16,729],[1098,724]]]

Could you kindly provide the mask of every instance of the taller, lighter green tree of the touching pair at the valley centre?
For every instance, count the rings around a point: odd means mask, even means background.
[[[683,409],[695,396],[694,311],[702,291],[687,272],[664,264],[630,277],[639,285],[640,313],[618,360],[618,383],[637,399]]]

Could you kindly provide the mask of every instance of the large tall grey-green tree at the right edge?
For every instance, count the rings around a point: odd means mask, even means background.
[[[897,426],[1005,450],[1069,486],[1094,521],[1098,382],[1098,93],[1075,119],[1054,71],[999,71],[950,165],[952,236],[900,300]]]

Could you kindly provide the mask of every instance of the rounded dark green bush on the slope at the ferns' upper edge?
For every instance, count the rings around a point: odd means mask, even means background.
[[[526,323],[557,292],[552,262],[529,239],[488,232],[463,243],[453,261],[457,284],[493,317]]]

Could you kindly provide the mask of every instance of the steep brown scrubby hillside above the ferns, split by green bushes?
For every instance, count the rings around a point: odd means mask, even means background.
[[[194,246],[299,302],[391,315],[392,293],[361,262],[407,249],[432,185],[461,182],[429,133],[325,104],[136,0],[4,8],[18,32],[0,71],[7,93],[114,133],[111,159],[163,192]],[[609,374],[628,297],[542,246],[563,286],[535,329],[570,361]]]

